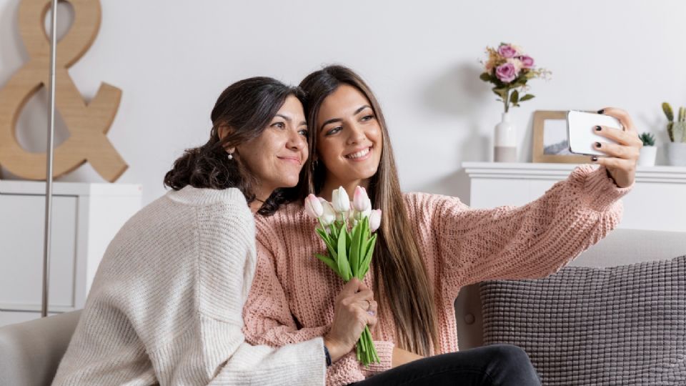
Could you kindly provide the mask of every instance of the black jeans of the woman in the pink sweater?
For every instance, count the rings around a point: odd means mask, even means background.
[[[380,372],[355,386],[541,385],[520,347],[491,345],[415,360]]]

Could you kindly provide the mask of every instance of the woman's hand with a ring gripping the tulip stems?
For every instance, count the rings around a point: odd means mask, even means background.
[[[377,302],[374,302],[374,293],[358,279],[350,279],[336,297],[334,321],[329,333],[324,335],[324,345],[329,350],[332,362],[355,347],[364,327],[369,325],[371,329],[376,324]]]

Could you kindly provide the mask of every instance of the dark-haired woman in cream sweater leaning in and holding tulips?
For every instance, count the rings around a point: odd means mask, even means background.
[[[323,385],[322,338],[274,350],[244,342],[255,269],[254,212],[273,212],[308,157],[302,91],[239,81],[212,110],[207,144],[174,162],[168,192],[109,245],[54,385]],[[345,302],[370,302],[347,284]],[[375,318],[343,310],[332,337],[356,340]],[[362,327],[359,327],[362,326]]]

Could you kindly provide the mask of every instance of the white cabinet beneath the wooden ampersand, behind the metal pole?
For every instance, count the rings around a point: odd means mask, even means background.
[[[105,249],[141,208],[136,184],[55,182],[49,312],[84,307]],[[45,182],[0,180],[0,326],[40,317]]]

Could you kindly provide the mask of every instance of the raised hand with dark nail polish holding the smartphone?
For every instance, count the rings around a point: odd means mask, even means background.
[[[615,180],[618,187],[630,187],[636,177],[636,163],[643,142],[638,137],[638,132],[629,113],[615,107],[607,107],[599,113],[619,119],[624,130],[601,126],[600,131],[597,131],[596,134],[614,139],[617,144],[597,142],[595,149],[607,154],[607,157],[594,157],[592,160],[594,163],[607,168],[607,172]],[[596,158],[597,160],[595,160]]]

